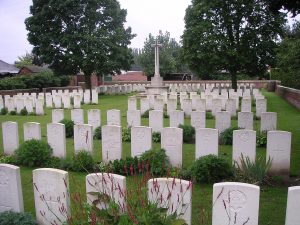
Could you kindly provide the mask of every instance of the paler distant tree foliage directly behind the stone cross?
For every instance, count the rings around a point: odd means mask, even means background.
[[[159,35],[154,37],[149,34],[144,42],[142,53],[139,54],[139,64],[147,76],[154,74],[154,47],[152,45],[158,40],[162,47],[159,52],[159,67],[162,76],[170,73],[183,72],[186,70],[181,60],[181,46],[174,38],[170,37],[169,32],[159,31]]]

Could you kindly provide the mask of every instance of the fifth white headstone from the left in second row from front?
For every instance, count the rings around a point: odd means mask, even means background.
[[[102,161],[109,162],[122,157],[122,128],[115,125],[102,126]]]

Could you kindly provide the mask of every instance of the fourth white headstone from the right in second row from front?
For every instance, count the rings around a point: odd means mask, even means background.
[[[183,131],[177,127],[165,127],[161,132],[161,148],[166,150],[172,166],[182,166]]]

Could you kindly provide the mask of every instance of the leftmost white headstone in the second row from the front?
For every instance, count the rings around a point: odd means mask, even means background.
[[[11,121],[3,122],[2,137],[4,154],[14,154],[14,151],[19,147],[18,124]]]

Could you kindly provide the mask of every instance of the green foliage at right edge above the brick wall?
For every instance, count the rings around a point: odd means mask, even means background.
[[[272,79],[281,80],[284,86],[300,89],[300,22],[289,30],[280,43],[276,69],[271,70]]]

